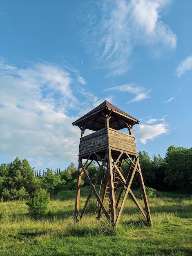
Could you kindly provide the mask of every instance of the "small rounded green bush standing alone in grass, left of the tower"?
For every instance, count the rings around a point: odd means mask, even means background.
[[[47,210],[50,202],[50,195],[45,189],[38,189],[31,195],[29,201],[26,203],[28,206],[29,214],[36,216],[42,215]]]

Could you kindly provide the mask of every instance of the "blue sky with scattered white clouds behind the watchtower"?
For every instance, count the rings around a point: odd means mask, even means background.
[[[191,148],[191,10],[191,0],[1,0],[0,163],[77,164],[72,122],[105,100],[140,120],[138,151]]]

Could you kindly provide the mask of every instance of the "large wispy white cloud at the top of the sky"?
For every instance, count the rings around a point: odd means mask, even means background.
[[[93,13],[86,16],[85,43],[108,76],[121,75],[132,67],[136,46],[149,47],[153,58],[176,48],[176,35],[161,20],[169,4],[170,0],[105,0],[101,10],[92,8]],[[94,19],[94,11],[101,11],[100,20]]]

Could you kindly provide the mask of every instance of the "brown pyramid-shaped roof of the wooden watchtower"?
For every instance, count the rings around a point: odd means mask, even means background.
[[[105,128],[104,115],[110,114],[109,127],[114,130],[121,130],[127,127],[127,124],[139,124],[139,120],[123,112],[116,106],[112,105],[108,101],[104,101],[99,106],[80,117],[73,122],[73,126],[79,126],[80,128],[86,128],[93,131],[98,131]]]

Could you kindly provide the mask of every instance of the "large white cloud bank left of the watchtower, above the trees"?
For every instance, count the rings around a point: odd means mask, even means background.
[[[36,168],[77,161],[80,130],[72,122],[83,104],[74,96],[79,80],[77,72],[50,63],[26,69],[1,63],[0,157],[27,158]],[[93,106],[88,92],[83,97]]]

